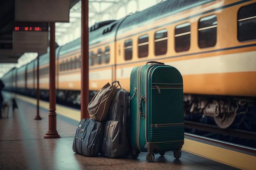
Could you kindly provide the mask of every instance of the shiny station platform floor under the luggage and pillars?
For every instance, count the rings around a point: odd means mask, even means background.
[[[48,131],[49,103],[40,102],[41,120],[36,117],[36,99],[28,99],[15,94],[2,92],[5,99],[16,99],[18,109],[9,108],[9,115],[0,119],[0,170],[238,170],[212,159],[186,152],[184,144],[180,159],[173,157],[173,152],[164,156],[155,154],[153,162],[146,161],[146,152],[141,152],[137,159],[126,157],[110,159],[85,157],[72,150],[78,118],[74,112],[79,110],[56,107],[56,129],[60,138],[45,139]],[[58,114],[62,112],[62,114]],[[65,113],[64,113],[65,112]],[[73,115],[73,116],[72,116]],[[199,146],[200,148],[200,146]],[[202,148],[203,149],[203,148]],[[254,159],[251,163],[256,165]],[[255,167],[255,166],[249,166]],[[241,168],[244,169],[244,168]],[[245,168],[247,169],[247,168]]]

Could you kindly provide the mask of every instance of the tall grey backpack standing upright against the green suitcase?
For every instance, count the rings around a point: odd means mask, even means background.
[[[119,85],[120,86],[120,85]],[[129,92],[118,88],[104,122],[101,156],[108,158],[125,157],[130,152]]]

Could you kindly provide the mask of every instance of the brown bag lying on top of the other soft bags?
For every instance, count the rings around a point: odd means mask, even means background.
[[[92,119],[101,122],[108,118],[108,110],[117,92],[117,87],[113,85],[114,83],[112,82],[112,85],[107,83],[103,86],[89,102],[88,113]]]

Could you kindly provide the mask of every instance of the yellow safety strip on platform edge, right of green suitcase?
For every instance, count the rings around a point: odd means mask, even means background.
[[[190,139],[184,140],[182,150],[243,170],[255,170],[256,166],[256,157],[252,155],[204,144]]]

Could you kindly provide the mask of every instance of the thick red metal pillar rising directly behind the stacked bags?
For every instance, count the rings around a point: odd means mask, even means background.
[[[88,0],[81,0],[81,119],[90,118],[89,103],[89,28]]]

